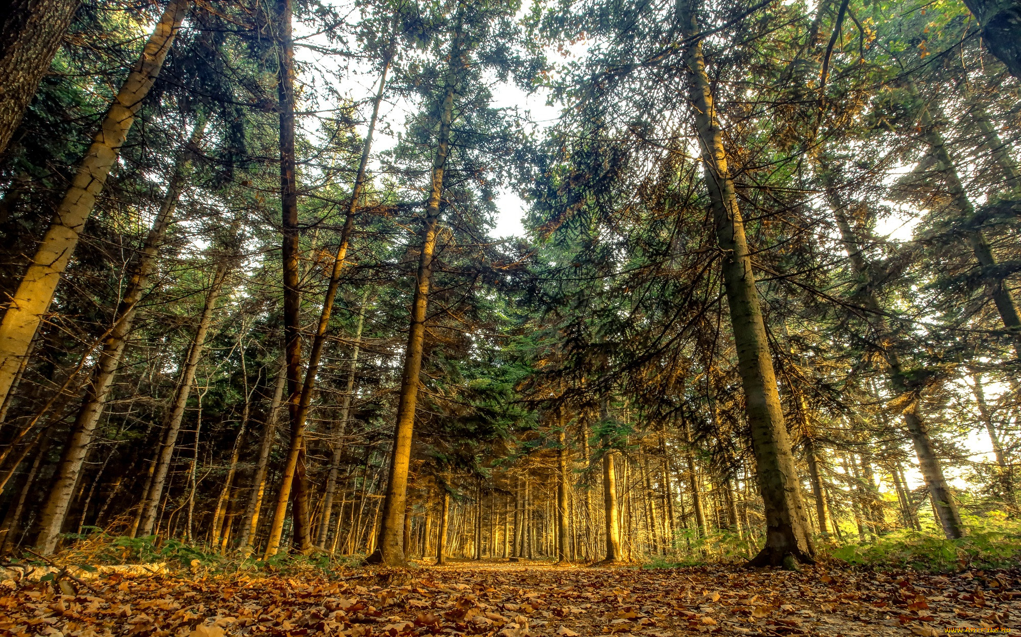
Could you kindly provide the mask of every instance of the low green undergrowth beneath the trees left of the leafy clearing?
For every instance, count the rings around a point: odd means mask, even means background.
[[[164,564],[171,575],[256,574],[264,575],[323,575],[330,576],[361,565],[364,555],[331,555],[315,550],[308,555],[281,551],[268,559],[260,554],[245,556],[234,550],[220,553],[208,546],[190,544],[176,538],[146,536],[131,538],[114,536],[99,529],[85,529],[83,534],[64,536],[64,550],[52,557],[59,567],[79,567],[94,571],[96,567],[119,565]],[[25,553],[25,560],[44,566],[32,553]]]

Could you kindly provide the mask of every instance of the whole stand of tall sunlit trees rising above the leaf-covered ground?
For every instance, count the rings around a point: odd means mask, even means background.
[[[1016,564],[1019,79],[1017,0],[11,0],[0,554]]]

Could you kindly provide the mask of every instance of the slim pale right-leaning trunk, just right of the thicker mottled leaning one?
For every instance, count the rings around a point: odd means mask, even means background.
[[[152,477],[152,486],[149,488],[142,514],[142,535],[151,535],[153,525],[156,522],[156,509],[163,494],[166,474],[171,470],[171,460],[174,457],[174,448],[178,441],[178,432],[181,431],[181,420],[184,418],[185,406],[188,404],[188,396],[191,394],[192,385],[195,383],[195,370],[198,368],[198,361],[202,358],[205,334],[209,331],[209,326],[212,324],[212,312],[215,309],[220,291],[224,286],[224,280],[227,279],[228,270],[228,260],[222,256],[220,263],[216,265],[216,272],[212,276],[209,291],[206,293],[205,304],[202,306],[202,314],[198,321],[198,329],[195,331],[195,338],[188,349],[188,356],[181,371],[181,382],[174,397],[171,414],[166,419],[166,434],[159,450],[159,457]]]

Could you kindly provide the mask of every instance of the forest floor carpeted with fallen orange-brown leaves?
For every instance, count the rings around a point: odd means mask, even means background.
[[[806,568],[445,567],[5,582],[0,635],[935,637],[1021,632],[1021,569],[950,576]],[[86,584],[91,587],[87,588]],[[11,586],[14,586],[11,588]],[[74,587],[74,589],[72,589]],[[74,594],[60,594],[74,593]]]

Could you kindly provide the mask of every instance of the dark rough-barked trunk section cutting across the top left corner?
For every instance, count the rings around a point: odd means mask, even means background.
[[[0,153],[50,69],[79,0],[8,0],[0,8]]]

